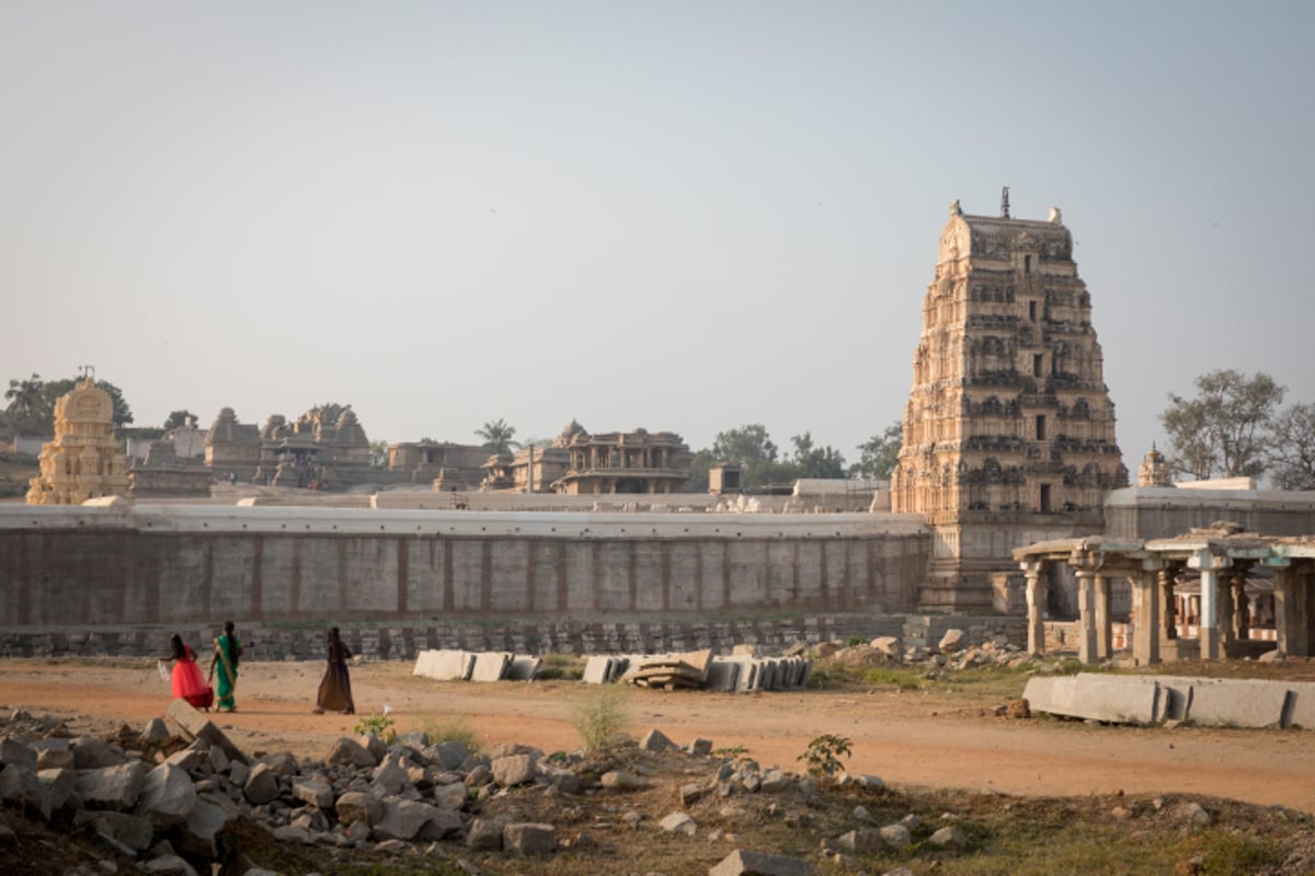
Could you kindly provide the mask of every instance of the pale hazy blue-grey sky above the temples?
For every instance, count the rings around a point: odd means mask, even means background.
[[[0,4],[0,386],[372,440],[898,419],[948,205],[1057,205],[1134,471],[1315,402],[1310,3]],[[1160,439],[1162,443],[1162,439]]]

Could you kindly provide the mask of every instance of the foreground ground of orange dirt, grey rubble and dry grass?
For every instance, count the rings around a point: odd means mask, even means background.
[[[865,659],[849,649],[823,666],[852,670]],[[1249,671],[1299,676],[1310,666]],[[569,724],[559,709],[594,686],[435,686],[406,667],[363,666],[358,700],[373,716],[312,716],[288,691],[302,690],[316,667],[255,665],[239,684],[242,711],[205,716],[162,700],[150,672],[0,667],[4,872],[702,876],[753,872],[746,860],[755,854],[772,856],[756,864],[768,873],[1315,872],[1306,806],[1264,802],[1282,796],[1277,777],[1269,785],[1278,793],[1255,793],[1257,802],[1224,799],[1265,763],[1308,793],[1308,732],[1007,717],[999,707],[1026,675],[974,691],[973,670],[931,663],[889,686],[823,668],[832,687],[797,695],[636,691],[626,705],[634,741],[586,754],[577,730],[558,726]],[[899,687],[928,674],[942,680],[920,692]],[[387,728],[380,697],[398,704]],[[443,742],[416,726],[437,728],[426,714],[435,705],[473,734]],[[485,721],[500,709],[501,722]],[[738,724],[727,725],[730,716]],[[400,735],[392,746],[360,737],[352,730],[363,717]],[[914,738],[872,733],[868,722],[907,725]],[[773,728],[797,732],[773,737]],[[504,735],[513,729],[522,742]],[[834,775],[810,776],[809,766],[827,766],[825,746],[819,754],[809,745],[825,735],[853,750],[834,751]],[[981,764],[972,762],[986,760],[995,780],[910,776],[899,753],[918,759],[918,743],[935,742],[928,737],[960,743],[957,775],[976,776]],[[973,747],[974,737],[985,745]],[[1041,792],[1002,789],[1022,767],[992,750],[1011,745],[1045,764]],[[1148,745],[1157,759],[1143,760]],[[819,756],[782,755],[810,750]],[[1065,754],[1073,775],[1064,774]],[[1122,770],[1094,779],[1099,791],[1077,777],[1093,760],[1119,759]],[[1208,772],[1210,763],[1232,772]],[[915,771],[942,775],[930,763]],[[1191,771],[1208,772],[1222,796],[1182,791],[1177,774]]]

